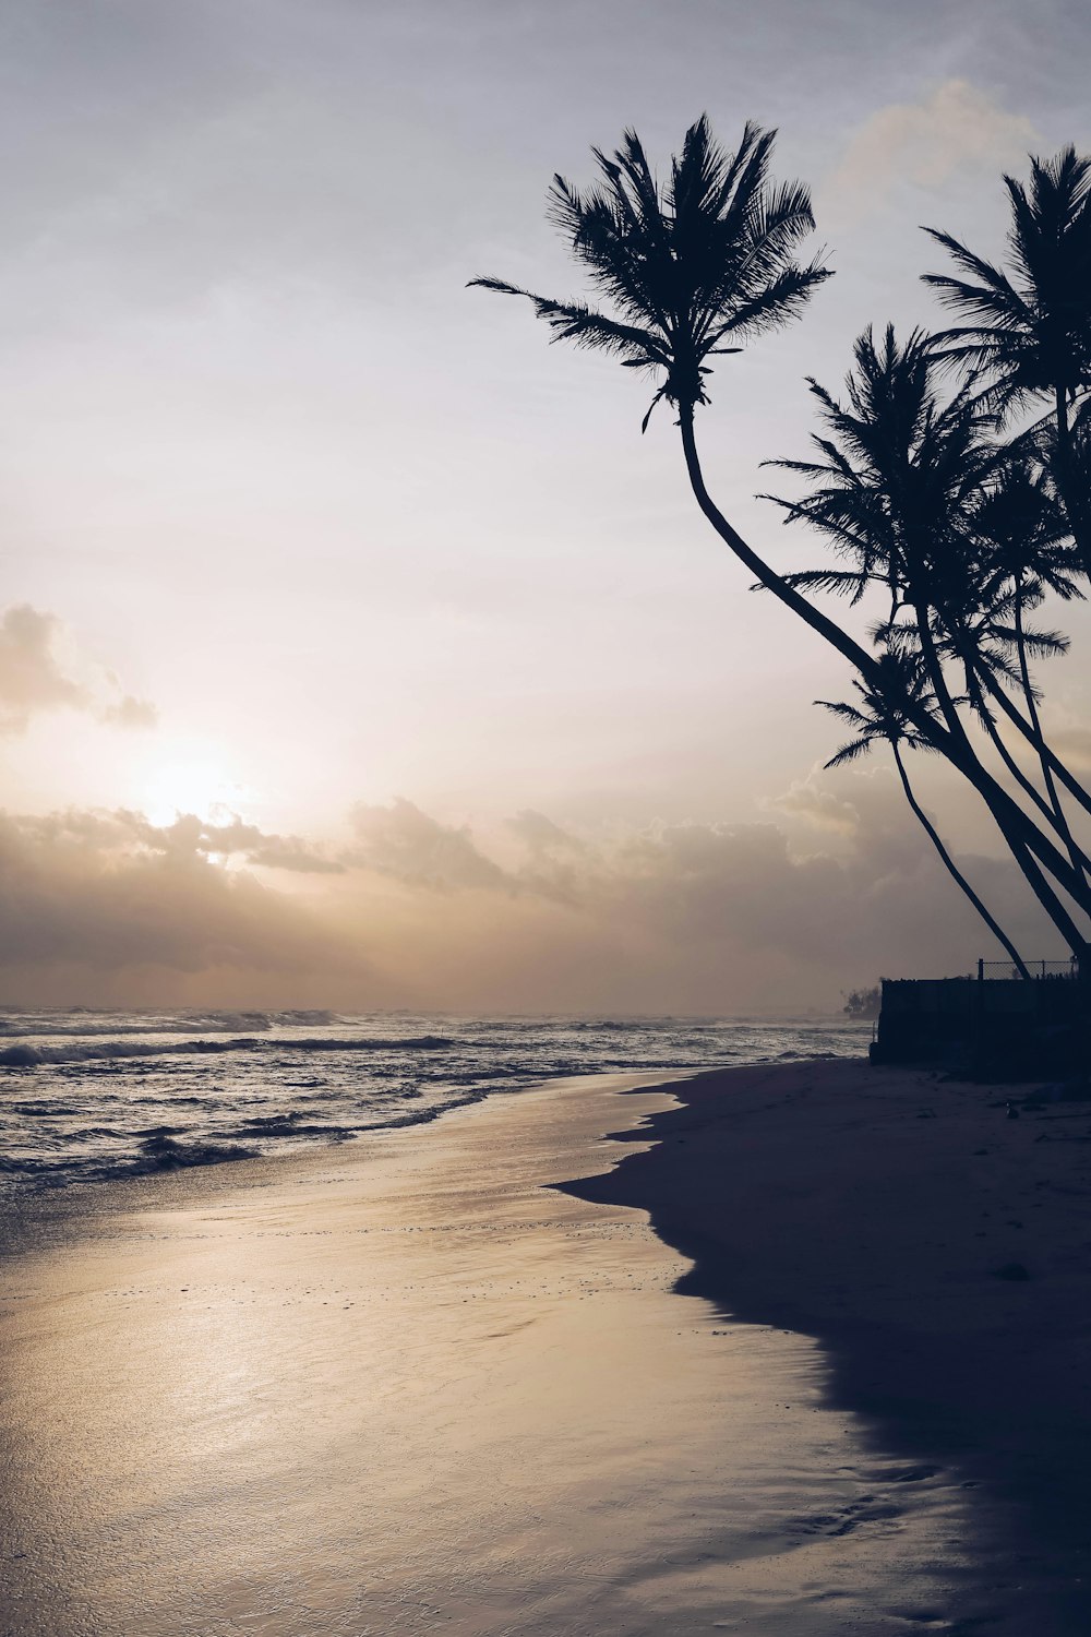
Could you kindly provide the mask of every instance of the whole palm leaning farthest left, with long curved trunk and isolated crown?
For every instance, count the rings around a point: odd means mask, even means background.
[[[749,573],[872,686],[880,681],[875,658],[777,575],[715,504],[694,435],[695,408],[708,403],[708,360],[797,318],[829,277],[818,259],[797,260],[800,241],[815,226],[811,203],[798,182],[770,180],[774,136],[748,124],[739,147],[726,152],[702,116],[685,133],[682,154],[672,159],[662,185],[633,131],[625,133],[612,157],[594,151],[599,183],[586,193],[554,178],[550,214],[613,313],[584,301],[556,301],[499,278],[471,283],[528,300],[554,339],[607,352],[625,368],[661,375],[649,413],[661,399],[677,409],[690,488],[705,519]],[[914,727],[978,789],[1021,868],[1029,863],[1034,869],[1034,855],[1078,894],[1083,877],[980,764],[957,719],[919,717]],[[1040,871],[1037,877],[1027,871],[1027,877],[1073,949],[1083,949],[1084,940]]]

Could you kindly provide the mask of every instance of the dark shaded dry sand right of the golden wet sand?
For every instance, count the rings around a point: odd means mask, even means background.
[[[662,1089],[658,1143],[571,1192],[646,1210],[679,1293],[815,1337],[831,1405],[977,1490],[1024,1629],[1091,1629],[1091,1107],[851,1061]]]

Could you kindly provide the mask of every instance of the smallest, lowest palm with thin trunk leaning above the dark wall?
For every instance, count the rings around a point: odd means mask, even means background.
[[[860,706],[852,706],[844,701],[816,699],[815,704],[823,706],[826,710],[833,712],[841,722],[847,722],[854,732],[854,738],[837,750],[829,761],[828,768],[841,768],[847,761],[854,761],[857,756],[865,755],[880,742],[890,745],[895,758],[895,766],[898,769],[898,778],[901,779],[901,789],[905,797],[921,822],[927,838],[944,861],[945,869],[950,873],[954,881],[959,882],[970,904],[993,933],[993,936],[1004,946],[1011,956],[1014,966],[1021,977],[1029,977],[1029,971],[1022,961],[1022,956],[1016,949],[1014,943],[1003,930],[999,922],[988,912],[981,899],[977,895],[967,877],[962,874],[954,858],[944,846],[939,832],[934,823],[918,802],[913,786],[909,784],[909,774],[906,773],[905,760],[901,756],[901,746],[911,750],[931,750],[929,740],[923,738],[913,727],[909,717],[906,715],[906,707],[911,704],[916,712],[931,714],[936,709],[936,696],[927,686],[927,678],[924,668],[921,666],[919,656],[911,656],[898,653],[896,650],[888,650],[878,658],[878,670],[882,673],[882,686],[867,688],[860,683],[852,683],[857,694],[860,696]]]

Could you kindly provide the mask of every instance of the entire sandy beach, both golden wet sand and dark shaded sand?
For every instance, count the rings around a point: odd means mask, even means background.
[[[0,1629],[1084,1630],[1091,1121],[656,1079],[28,1220]]]

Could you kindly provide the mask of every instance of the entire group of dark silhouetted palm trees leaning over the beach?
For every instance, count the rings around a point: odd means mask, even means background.
[[[955,319],[905,339],[865,331],[837,396],[810,380],[818,431],[806,460],[772,460],[797,483],[767,496],[826,547],[779,575],[708,494],[695,411],[712,360],[800,316],[829,277],[800,257],[808,190],[775,182],[775,133],[746,124],[734,152],[702,116],[661,183],[643,144],[594,149],[599,180],[563,177],[550,216],[608,311],[525,296],[553,331],[646,372],[667,401],[700,511],[759,586],[852,668],[851,701],[818,701],[851,732],[828,766],[890,745],[901,786],[944,866],[1027,976],[1022,956],[959,871],[909,782],[906,753],[942,756],[988,809],[1029,891],[1071,954],[1091,940],[1091,794],[1050,743],[1037,668],[1068,638],[1035,624],[1047,598],[1081,599],[1091,575],[1091,160],[1063,149],[1004,177],[1004,265],[926,229],[945,270],[926,283]],[[873,619],[865,640],[816,596]]]

